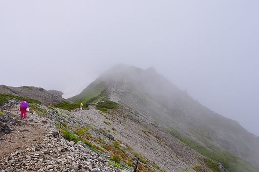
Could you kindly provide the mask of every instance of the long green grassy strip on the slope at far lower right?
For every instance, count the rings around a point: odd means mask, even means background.
[[[194,140],[191,140],[189,138],[181,136],[181,134],[173,128],[166,129],[171,135],[178,138],[181,142],[184,144],[190,146],[195,151],[199,152],[203,156],[215,161],[220,162],[225,169],[227,169],[229,172],[259,172],[259,169],[257,167],[254,167],[252,164],[242,160],[241,158],[237,157],[236,155],[222,150],[218,149],[216,146],[214,146],[211,143],[207,143],[206,146],[210,148],[212,151],[208,151],[205,147],[201,146],[199,143],[195,142]],[[206,160],[207,166],[209,166],[214,172],[217,172],[215,167],[215,164]],[[218,169],[219,170],[219,169]]]

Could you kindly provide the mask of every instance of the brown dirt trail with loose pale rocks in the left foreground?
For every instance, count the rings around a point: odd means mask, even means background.
[[[15,108],[4,110],[10,133],[0,135],[0,172],[126,172],[108,164],[107,159],[82,142],[75,144],[59,136],[50,120],[35,113],[20,118]]]

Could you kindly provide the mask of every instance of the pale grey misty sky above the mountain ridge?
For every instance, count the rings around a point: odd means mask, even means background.
[[[259,135],[259,0],[0,1],[0,85],[64,92],[118,63]]]

